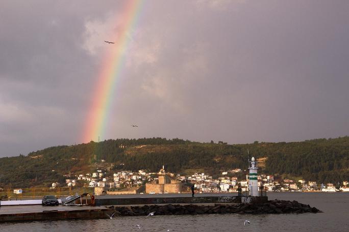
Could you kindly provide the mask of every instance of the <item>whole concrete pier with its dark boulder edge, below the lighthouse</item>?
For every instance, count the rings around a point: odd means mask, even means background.
[[[80,203],[79,201],[77,200],[76,203]],[[110,206],[111,202],[118,202],[118,204]],[[321,212],[315,207],[301,204],[295,200],[268,200],[267,197],[245,196],[102,198],[99,204],[106,204],[109,207],[3,206],[0,209],[0,223],[27,220],[98,219],[106,218],[108,212],[115,212],[115,216],[146,216],[151,212],[155,212],[154,215],[301,214]]]

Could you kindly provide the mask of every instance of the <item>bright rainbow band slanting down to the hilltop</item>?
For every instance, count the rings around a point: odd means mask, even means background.
[[[128,32],[131,32],[138,22],[143,0],[127,0],[125,3],[121,30],[112,36],[114,40],[110,39],[115,44],[107,44],[111,49],[108,50],[104,59],[105,63],[98,75],[94,94],[92,94],[91,107],[82,136],[84,142],[96,139],[99,135],[103,136],[106,132],[116,81],[122,75],[126,51],[131,41]]]

